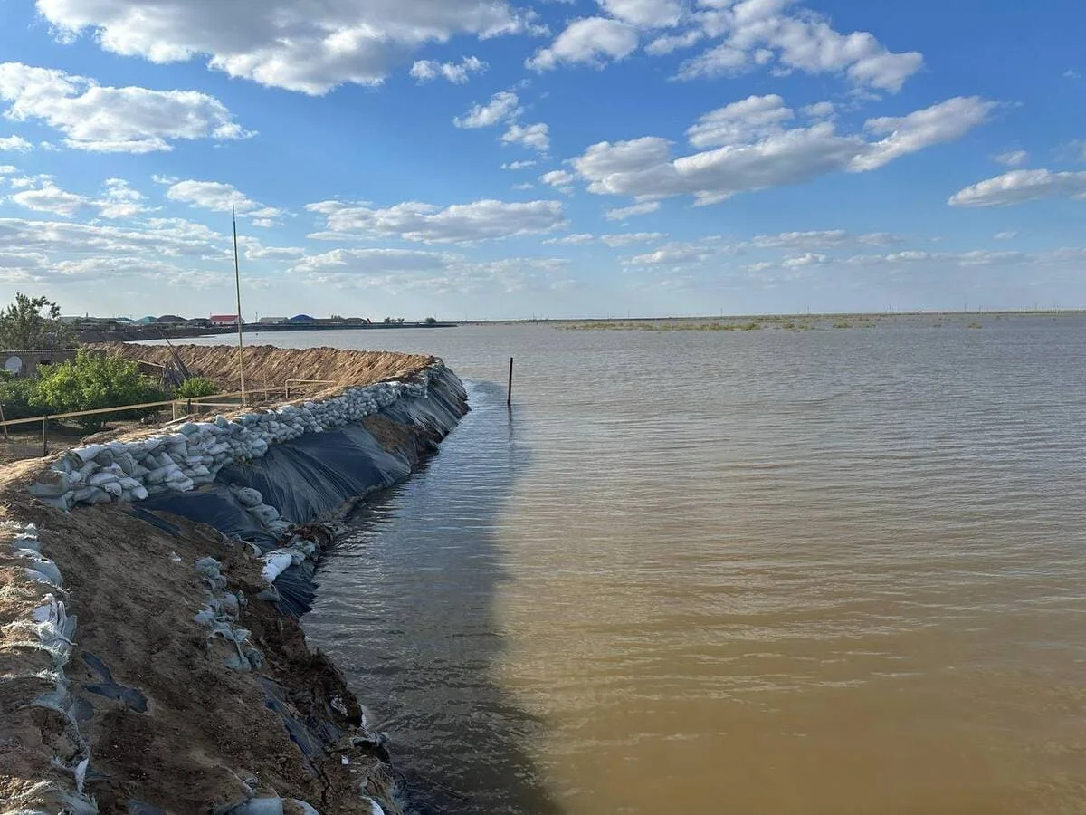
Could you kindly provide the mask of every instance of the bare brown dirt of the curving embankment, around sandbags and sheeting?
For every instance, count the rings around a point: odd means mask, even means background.
[[[302,371],[343,385],[409,376],[431,360],[252,351],[269,372]],[[182,353],[204,375],[231,362],[227,349]],[[441,436],[382,415],[363,425],[412,464]],[[26,562],[13,554],[12,532],[0,529],[0,812],[55,800],[48,798],[49,785],[73,789],[73,769],[76,778],[85,774],[83,791],[100,813],[226,813],[231,802],[270,797],[304,801],[321,815],[371,815],[378,810],[370,799],[388,815],[409,811],[383,737],[366,728],[342,675],[310,651],[299,620],[280,614],[274,598],[262,599],[268,584],[255,547],[139,503],[70,513],[46,506],[27,488],[50,461],[0,466],[0,521],[36,525],[40,554],[64,580],[62,590],[31,582]],[[311,540],[319,550],[333,531],[303,522],[285,537]],[[217,562],[211,577],[199,567],[207,557]],[[70,714],[30,704],[56,681],[49,653],[33,645],[31,620],[46,591],[78,615],[62,676]],[[231,605],[224,598],[236,600]],[[210,605],[229,618],[231,630],[248,630],[244,645],[261,656],[253,669],[230,666],[237,647],[199,622]],[[81,770],[76,742],[89,744]]]

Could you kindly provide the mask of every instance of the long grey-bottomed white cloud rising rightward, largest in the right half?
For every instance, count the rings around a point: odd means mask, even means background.
[[[753,105],[759,108],[760,115],[781,115],[780,109],[765,103],[766,98],[755,99],[762,100],[760,108]],[[589,183],[590,192],[644,199],[692,195],[696,203],[708,204],[737,192],[800,184],[826,173],[875,170],[908,153],[959,138],[984,122],[993,106],[976,97],[958,97],[907,116],[869,120],[866,129],[884,136],[875,141],[841,135],[832,122],[794,129],[762,123],[747,127],[754,130],[748,142],[727,143],[677,159],[670,156],[667,139],[646,136],[592,145],[571,164]],[[714,142],[725,136],[733,139],[743,128],[742,118],[736,124],[703,117],[692,129],[693,137]]]

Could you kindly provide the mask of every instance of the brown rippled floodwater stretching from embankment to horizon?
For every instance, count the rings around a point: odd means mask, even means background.
[[[266,335],[475,408],[311,639],[441,812],[1086,813],[1086,319],[937,322]]]

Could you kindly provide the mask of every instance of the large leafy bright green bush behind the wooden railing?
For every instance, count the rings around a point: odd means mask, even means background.
[[[37,381],[31,400],[39,413],[72,413],[168,399],[154,379],[139,372],[139,364],[123,356],[103,356],[78,351],[75,360],[53,365]],[[153,410],[79,416],[76,424],[87,431],[100,430],[106,421],[139,418]]]

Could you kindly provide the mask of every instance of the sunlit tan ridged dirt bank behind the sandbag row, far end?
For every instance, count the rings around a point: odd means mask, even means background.
[[[130,360],[171,365],[174,352],[193,375],[213,379],[224,391],[238,390],[238,349],[229,346],[131,346],[103,343],[98,348]],[[406,379],[435,361],[424,354],[393,351],[349,351],[338,348],[276,348],[249,346],[244,349],[248,388],[281,387],[288,379],[318,379],[329,387],[371,385],[388,379]],[[312,390],[311,390],[312,392]]]

